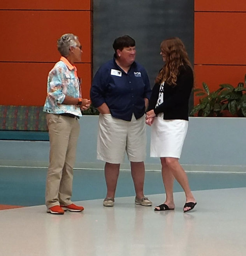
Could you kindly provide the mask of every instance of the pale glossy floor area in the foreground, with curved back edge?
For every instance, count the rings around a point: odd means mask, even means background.
[[[183,213],[185,197],[175,193],[174,211],[154,212],[134,197],[80,201],[82,213],[46,213],[32,206],[0,211],[1,256],[245,256],[246,188],[195,191],[197,206]],[[149,196],[154,206],[163,194]]]

